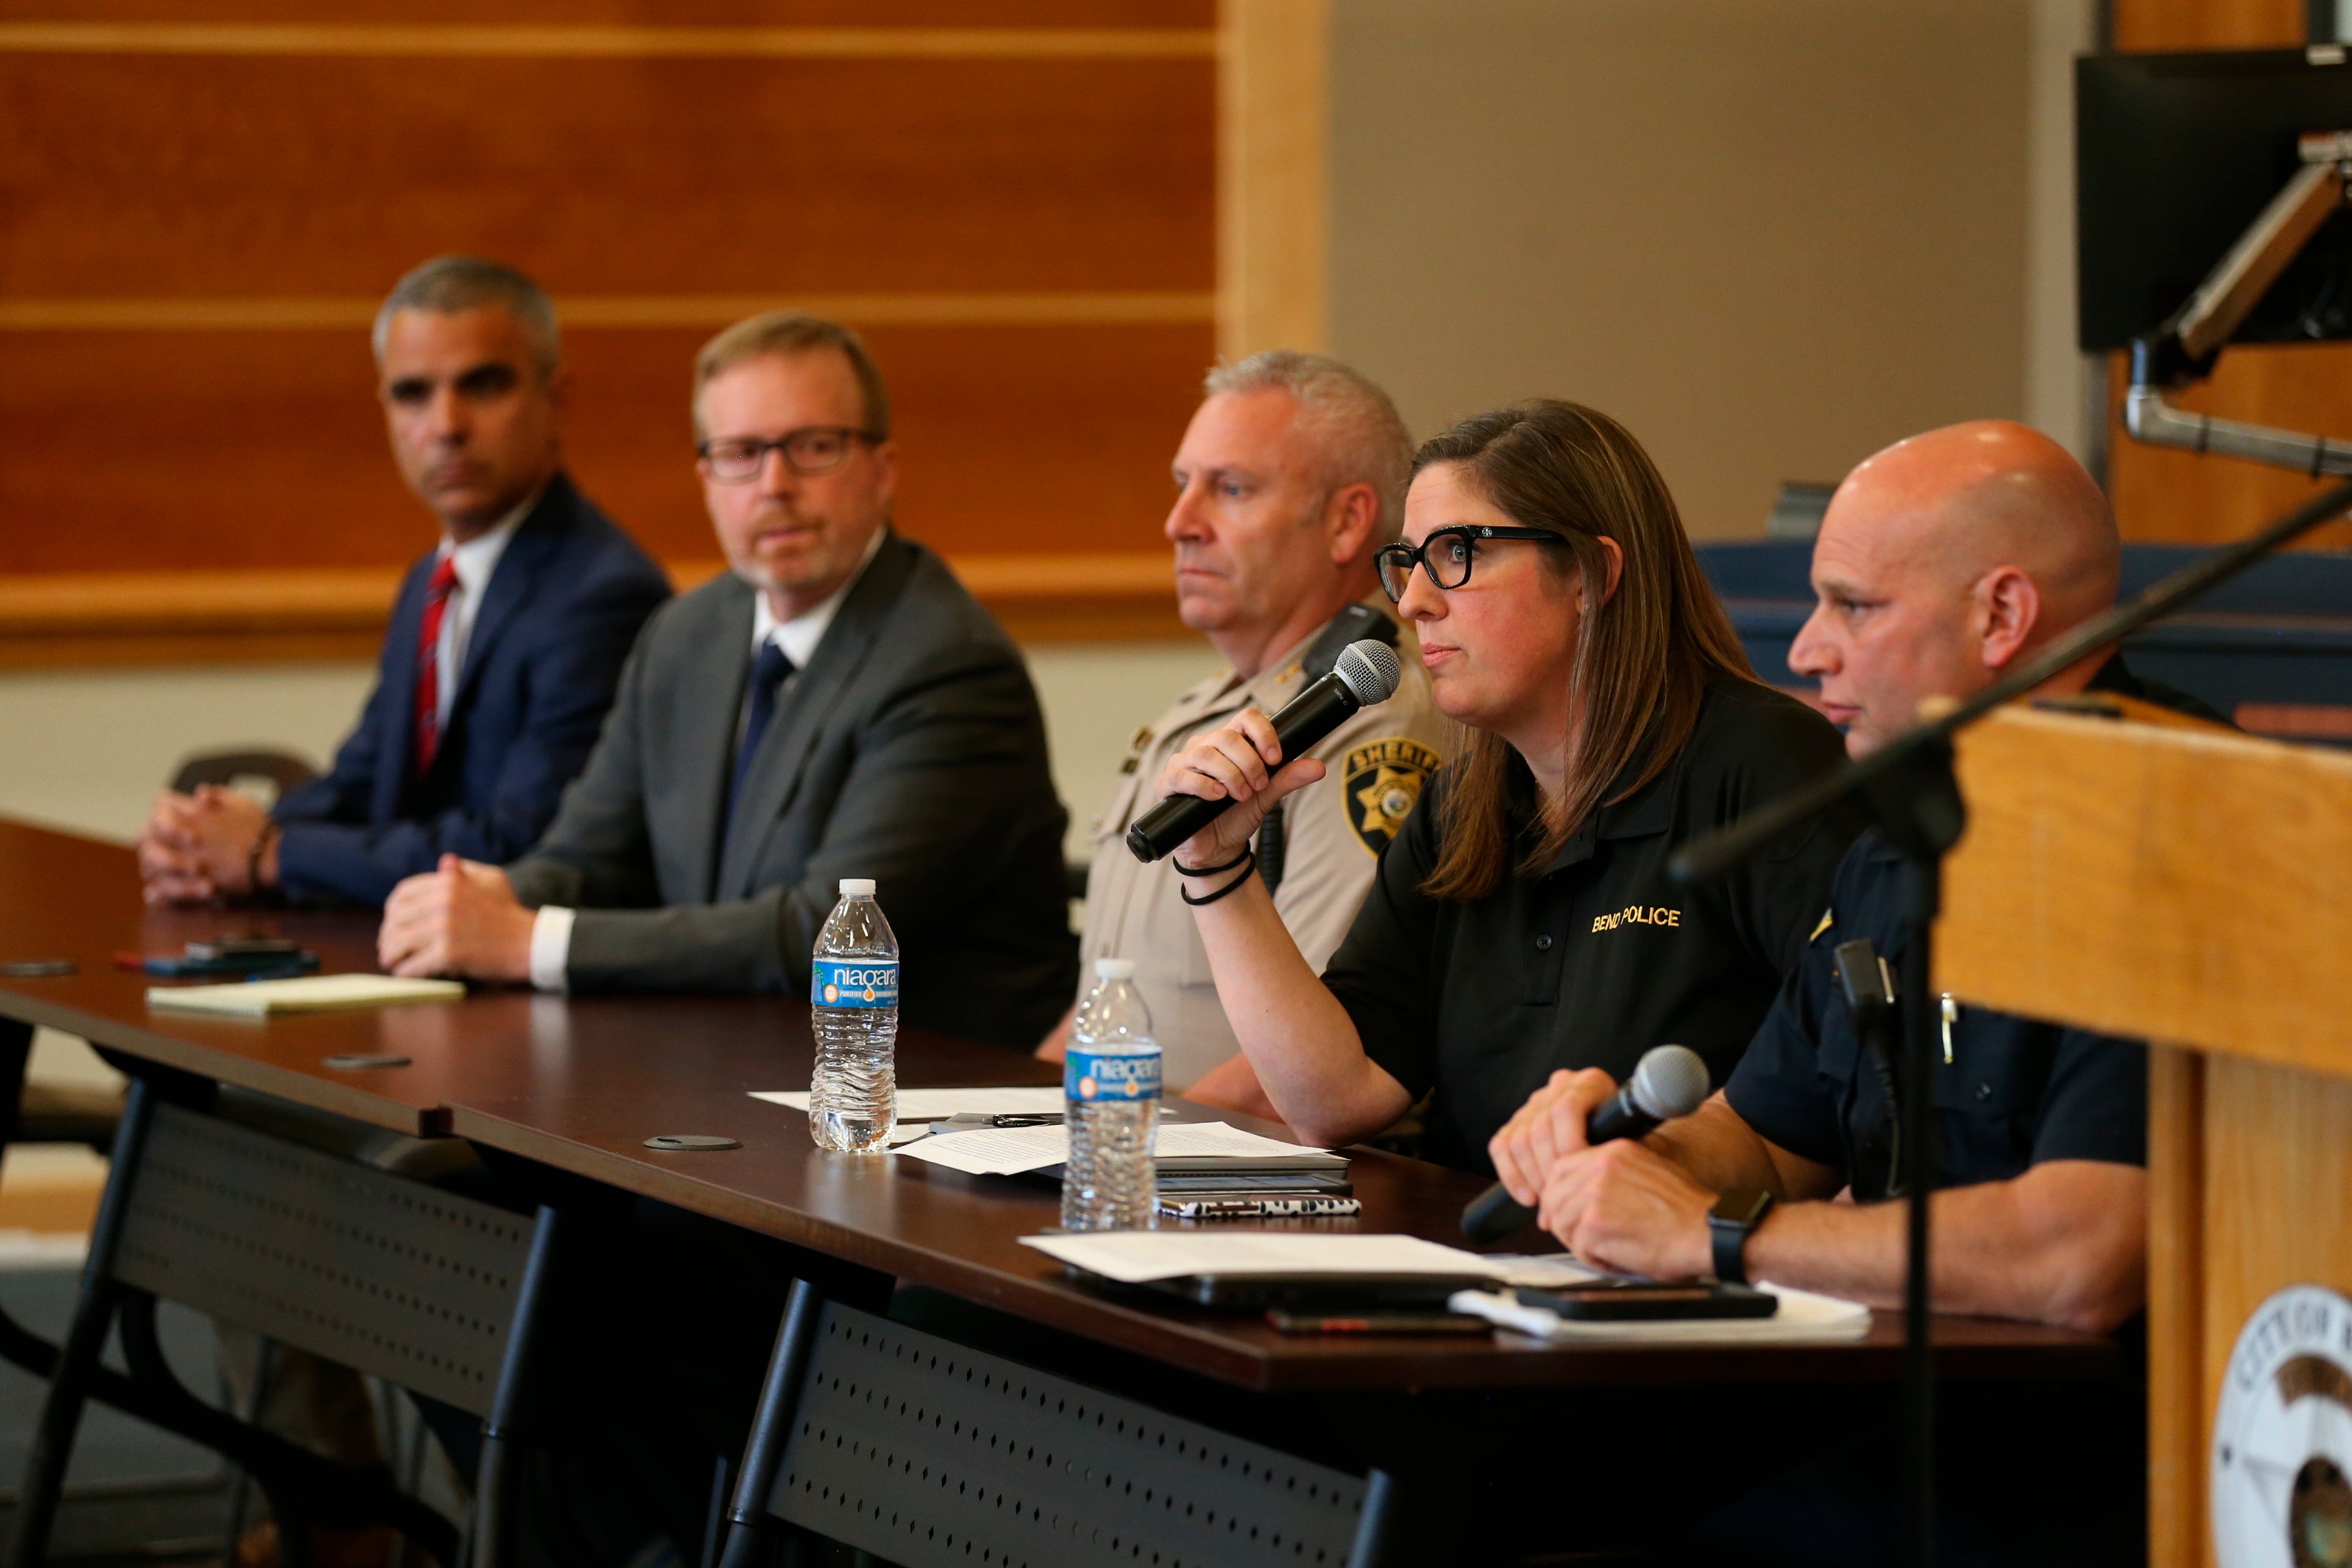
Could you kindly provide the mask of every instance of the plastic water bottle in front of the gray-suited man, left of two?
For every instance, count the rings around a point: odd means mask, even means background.
[[[821,1150],[880,1154],[898,1124],[898,938],[868,877],[842,877],[842,900],[816,933],[809,1018],[809,1135]]]

